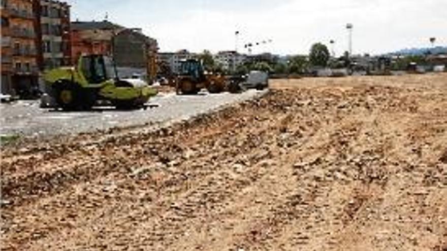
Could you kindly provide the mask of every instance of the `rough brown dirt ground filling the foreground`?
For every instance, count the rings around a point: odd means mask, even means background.
[[[155,132],[5,149],[2,249],[447,250],[446,74],[271,86]]]

